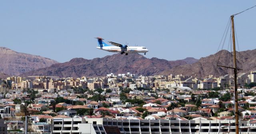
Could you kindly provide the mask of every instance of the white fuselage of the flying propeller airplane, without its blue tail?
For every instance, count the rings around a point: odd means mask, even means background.
[[[123,53],[132,53],[132,52],[137,52],[137,53],[146,53],[148,52],[148,49],[146,49],[143,46],[129,46],[127,48],[125,47],[119,47],[119,46],[102,46],[102,47],[97,47],[98,49],[105,50],[108,52],[123,52]]]

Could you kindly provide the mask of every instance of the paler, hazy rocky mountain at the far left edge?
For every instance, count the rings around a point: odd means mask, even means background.
[[[56,63],[58,62],[49,58],[15,52],[9,48],[0,47],[0,72],[10,76],[45,68]]]

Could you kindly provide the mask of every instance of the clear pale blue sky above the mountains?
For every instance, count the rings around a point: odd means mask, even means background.
[[[94,37],[145,46],[147,58],[178,60],[214,54],[231,14],[254,0],[5,0],[0,46],[67,62],[114,53]],[[256,8],[235,17],[240,51],[256,48]]]

